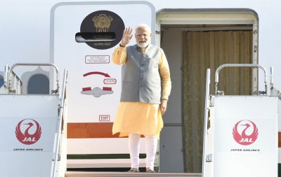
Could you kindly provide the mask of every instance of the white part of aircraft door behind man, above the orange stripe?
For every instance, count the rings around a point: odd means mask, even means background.
[[[120,41],[122,34],[118,34],[117,29],[120,31],[122,25],[136,27],[141,21],[154,26],[152,15],[155,15],[155,11],[151,8],[148,3],[133,2],[58,3],[53,7],[51,60],[59,68],[65,67],[69,71],[68,122],[112,122],[119,104],[122,67],[112,63],[112,53],[119,42],[94,43],[94,47],[77,43],[75,34],[83,30],[83,26],[89,26],[85,30],[98,30],[93,20],[86,21],[87,17],[92,19],[99,15],[112,16],[108,30],[114,31],[117,35],[116,41]],[[144,16],[138,15],[140,13]],[[136,41],[132,39],[130,44],[134,43]],[[110,87],[110,90],[104,90],[104,87]],[[101,94],[98,94],[98,90]],[[107,120],[100,120],[100,115],[109,117]]]

